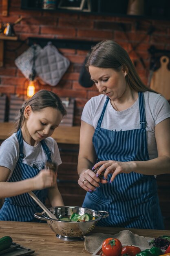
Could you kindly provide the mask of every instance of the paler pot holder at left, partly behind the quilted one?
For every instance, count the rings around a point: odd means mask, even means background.
[[[35,58],[40,54],[41,46],[35,45]],[[18,58],[15,59],[15,65],[19,68],[22,74],[29,79],[29,75],[32,72],[33,66],[33,47],[29,47],[25,52],[23,52]]]

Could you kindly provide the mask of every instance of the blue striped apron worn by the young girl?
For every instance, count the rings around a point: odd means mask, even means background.
[[[17,182],[20,180],[30,179],[38,175],[40,170],[33,168],[27,164],[22,163],[24,157],[23,153],[23,140],[22,132],[19,130],[17,132],[18,143],[20,147],[20,156],[18,162],[13,170],[13,173],[9,179],[9,182]],[[46,143],[41,141],[42,148],[47,155],[47,159],[51,160],[51,151],[47,147]],[[35,190],[33,191],[35,195],[45,204],[48,190]],[[10,198],[5,198],[4,204],[0,209],[0,220],[11,220],[11,221],[26,221],[26,222],[42,222],[36,219],[33,214],[36,212],[42,212],[39,205],[31,198],[28,193],[22,195],[13,196]]]

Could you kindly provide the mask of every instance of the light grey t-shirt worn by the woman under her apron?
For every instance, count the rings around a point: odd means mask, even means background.
[[[91,98],[84,106],[81,119],[96,128],[105,101],[106,96],[104,94]],[[170,117],[170,105],[160,94],[146,91],[144,92],[144,108],[146,114],[148,153],[150,159],[154,159],[158,156],[155,126]],[[139,129],[140,127],[139,99],[130,108],[123,111],[116,111],[110,101],[108,102],[101,128],[124,131]]]

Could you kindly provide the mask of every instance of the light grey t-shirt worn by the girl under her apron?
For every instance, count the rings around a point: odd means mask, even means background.
[[[56,141],[48,137],[44,140],[49,150],[51,151],[51,160],[56,162],[57,165],[62,163],[60,152]],[[45,165],[47,156],[39,142],[35,147],[23,141],[23,163],[28,164],[39,170]],[[8,139],[2,142],[0,146],[0,166],[9,168],[11,172],[14,170],[19,157],[19,143],[16,133],[13,133]]]

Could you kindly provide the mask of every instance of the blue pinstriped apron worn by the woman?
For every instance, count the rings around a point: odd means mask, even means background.
[[[97,162],[115,160],[120,162],[149,160],[146,134],[144,95],[139,92],[140,129],[113,131],[101,128],[107,97],[102,114],[93,135]],[[108,180],[111,174],[108,175]],[[140,229],[164,229],[157,183],[153,175],[135,172],[120,173],[112,183],[100,184],[93,193],[87,192],[83,207],[103,210],[109,217],[98,222],[99,226]]]

